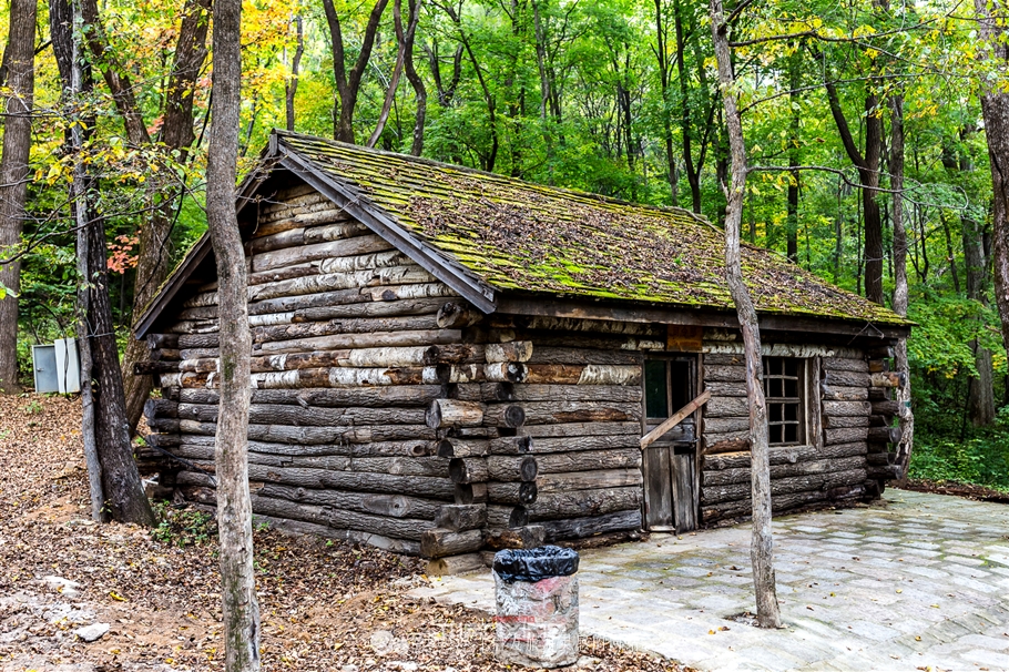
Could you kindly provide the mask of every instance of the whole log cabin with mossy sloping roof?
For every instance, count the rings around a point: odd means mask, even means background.
[[[706,220],[281,131],[237,208],[249,486],[269,525],[456,571],[488,549],[750,511],[746,370]],[[771,251],[743,263],[775,513],[878,496],[910,323]],[[204,236],[134,326],[135,373],[160,388],[139,458],[204,506],[215,289]]]

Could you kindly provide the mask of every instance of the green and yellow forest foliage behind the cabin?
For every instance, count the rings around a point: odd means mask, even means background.
[[[18,2],[0,2],[0,39],[13,34]],[[20,286],[0,295],[19,305],[26,384],[31,345],[77,329],[74,166],[85,164],[96,187],[124,353],[132,316],[206,226],[210,2],[82,0],[73,30],[94,86],[72,105],[50,34],[53,10],[67,6],[37,6],[28,217],[20,242],[0,250],[21,262]],[[992,80],[974,4],[738,7],[744,132],[750,163],[766,169],[747,184],[744,241],[889,305],[887,101],[903,96],[908,316],[918,324],[910,476],[1009,490],[1009,369],[979,102]],[[730,159],[707,10],[697,0],[247,0],[241,166],[254,165],[273,128],[287,128],[676,205],[718,224]],[[9,45],[4,98],[14,94]],[[81,119],[93,131],[71,155],[68,130]],[[878,217],[858,189],[859,162],[874,159]],[[881,254],[867,255],[866,235],[877,233]]]

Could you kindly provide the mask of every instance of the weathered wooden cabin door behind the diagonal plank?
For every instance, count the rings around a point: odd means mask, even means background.
[[[695,389],[689,357],[645,359],[643,432],[648,434],[685,406]],[[649,530],[693,530],[697,525],[694,419],[687,418],[649,446],[644,469],[644,521]]]

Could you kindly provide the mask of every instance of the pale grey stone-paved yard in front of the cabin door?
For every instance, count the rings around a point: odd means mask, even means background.
[[[786,629],[754,610],[750,528],[582,553],[581,631],[700,670],[1009,670],[1009,507],[887,490],[775,520]],[[493,610],[490,573],[415,594]]]

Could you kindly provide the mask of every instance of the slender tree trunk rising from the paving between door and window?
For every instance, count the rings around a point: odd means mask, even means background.
[[[743,220],[743,198],[746,189],[746,145],[743,120],[736,102],[735,75],[728,47],[728,27],[722,0],[711,0],[712,39],[718,65],[718,82],[725,106],[725,122],[732,156],[731,182],[726,187],[725,206],[725,279],[743,330],[746,359],[746,397],[750,403],[751,498],[753,501],[753,538],[750,559],[753,563],[753,584],[756,593],[757,624],[781,628],[774,578],[773,538],[771,532],[771,457],[768,448],[767,408],[764,401],[761,330],[750,291],[743,282],[740,233]]]

